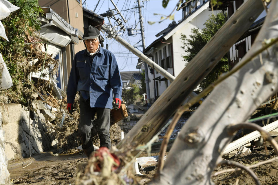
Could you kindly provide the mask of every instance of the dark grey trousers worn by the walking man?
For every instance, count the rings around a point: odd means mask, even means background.
[[[91,108],[90,99],[85,101],[80,95],[79,99],[80,119],[78,124],[78,136],[81,140],[82,147],[88,148],[92,145],[91,129],[95,114],[98,118],[98,137],[100,138],[100,147],[111,148],[110,141],[110,109],[109,108]]]

